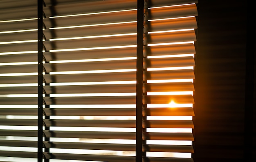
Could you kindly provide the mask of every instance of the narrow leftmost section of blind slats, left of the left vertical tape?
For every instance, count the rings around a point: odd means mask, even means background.
[[[1,0],[0,161],[36,161],[36,108],[37,2]]]

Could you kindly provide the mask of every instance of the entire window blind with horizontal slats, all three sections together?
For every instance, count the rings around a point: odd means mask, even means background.
[[[138,151],[144,162],[193,161],[196,2],[144,3],[143,115],[136,116],[137,0],[44,1],[45,162],[135,162]],[[37,158],[36,6],[0,1],[5,162]]]

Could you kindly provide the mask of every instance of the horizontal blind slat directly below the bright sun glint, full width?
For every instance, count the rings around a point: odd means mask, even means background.
[[[71,107],[71,106],[70,106]],[[44,109],[47,115],[64,115],[64,116],[134,116],[134,108],[58,108],[58,109]],[[1,108],[2,115],[36,115],[37,109],[32,108]],[[184,108],[147,108],[144,112],[147,116],[194,116],[191,107]]]

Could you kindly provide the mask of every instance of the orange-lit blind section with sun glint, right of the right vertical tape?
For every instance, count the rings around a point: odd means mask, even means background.
[[[193,57],[197,28],[193,2],[146,3],[144,151],[150,162],[193,161]]]

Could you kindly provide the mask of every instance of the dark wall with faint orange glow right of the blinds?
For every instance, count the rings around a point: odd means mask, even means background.
[[[255,7],[246,0],[199,0],[196,32],[193,159],[256,161],[256,125],[248,124],[255,113],[255,100],[248,97],[255,96],[255,71],[248,69],[255,63]]]

